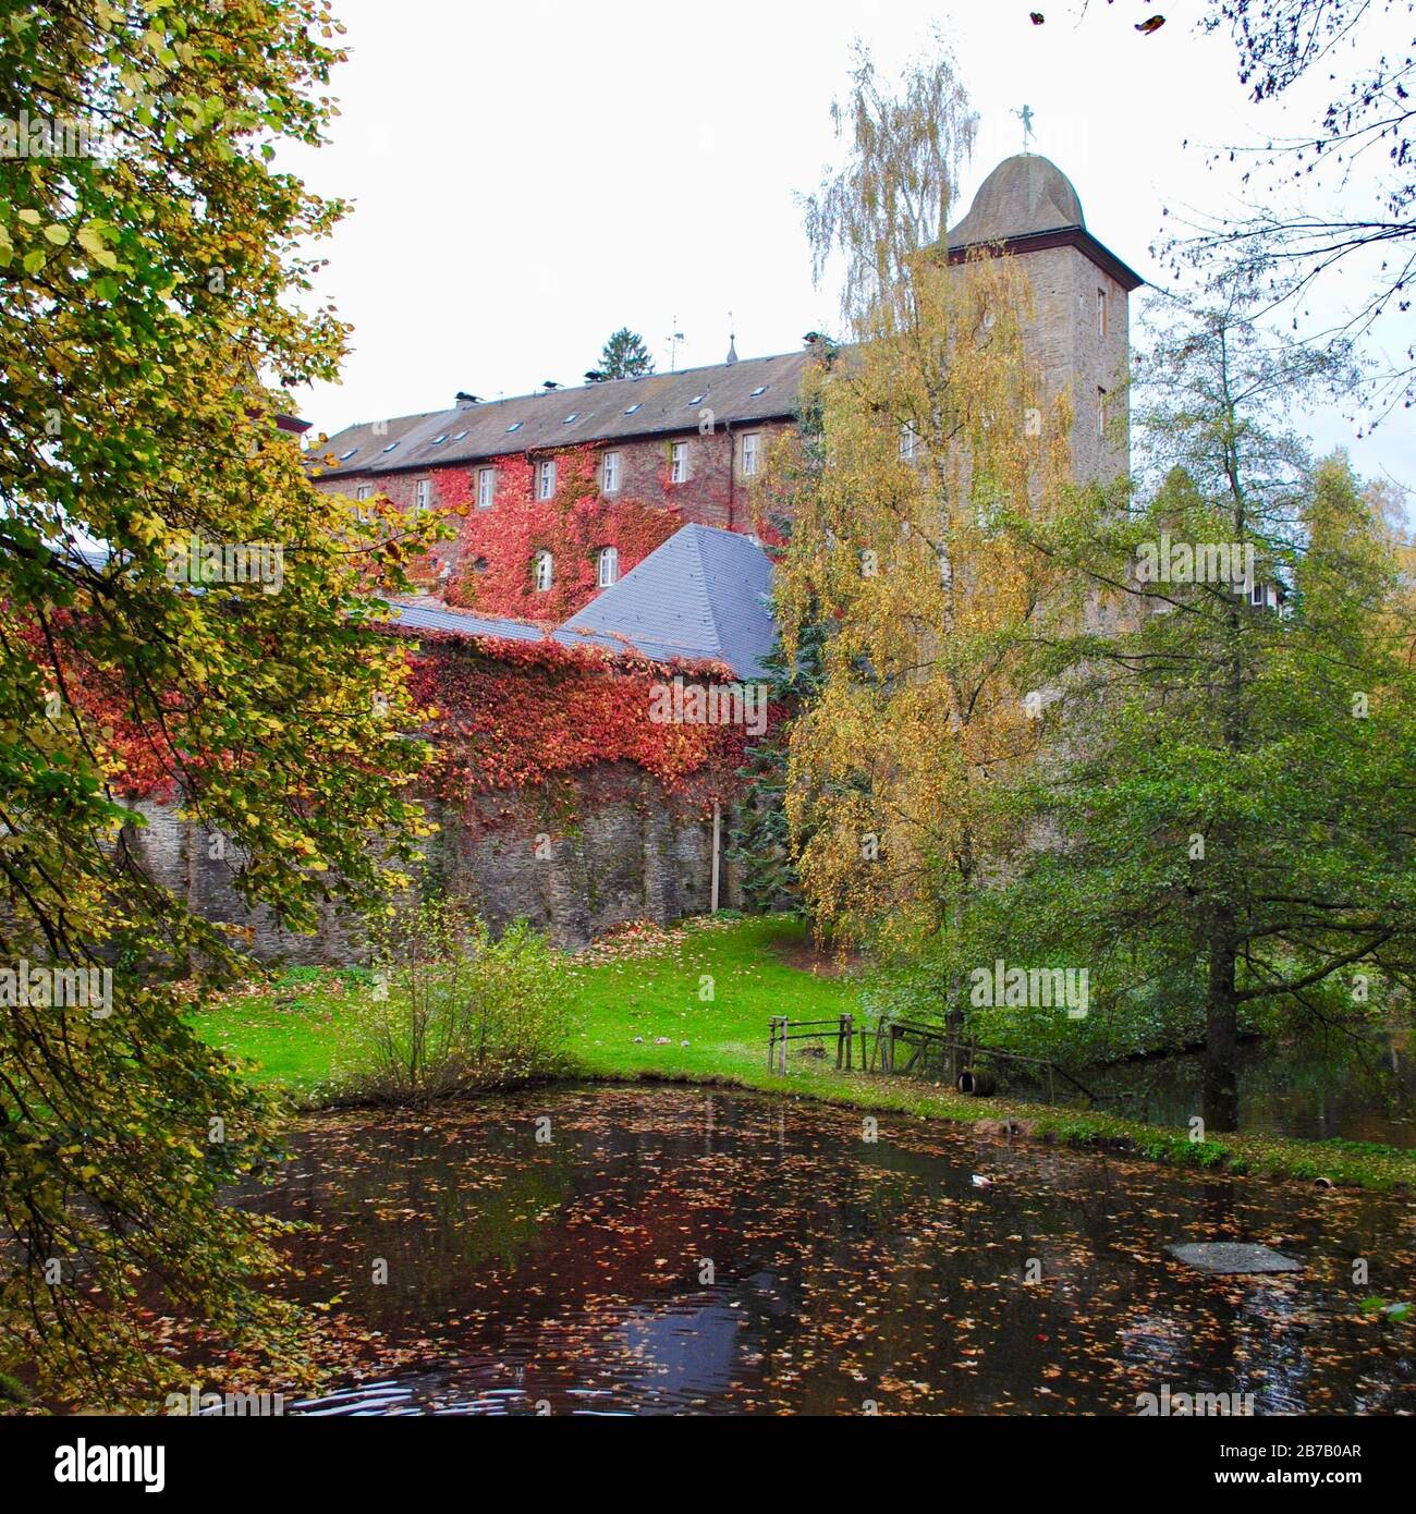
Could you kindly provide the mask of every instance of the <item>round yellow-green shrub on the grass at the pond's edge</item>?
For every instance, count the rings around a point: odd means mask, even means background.
[[[374,933],[371,983],[353,1016],[347,1098],[426,1104],[504,1089],[560,1066],[568,980],[545,936],[518,921],[500,940],[444,901]]]

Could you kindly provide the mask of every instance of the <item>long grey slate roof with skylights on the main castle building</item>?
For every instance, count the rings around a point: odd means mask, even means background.
[[[807,353],[800,351],[644,378],[610,378],[404,415],[382,422],[383,431],[374,430],[380,422],[368,421],[339,431],[318,448],[321,457],[333,459],[320,477],[406,472],[575,442],[695,431],[698,413],[706,407],[718,424],[788,419],[795,415],[806,362]]]

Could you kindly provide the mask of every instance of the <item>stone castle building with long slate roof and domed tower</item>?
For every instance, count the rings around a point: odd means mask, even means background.
[[[1030,348],[1048,391],[1071,391],[1077,475],[1106,478],[1122,471],[1130,295],[1143,280],[1087,230],[1066,174],[1033,153],[1006,159],[983,182],[947,242],[951,262],[992,254],[1019,259],[1033,292]],[[483,545],[471,548],[471,560],[465,560],[468,531],[460,531],[457,542],[441,544],[430,565],[433,593],[469,583],[463,604],[566,625],[568,616],[580,616],[597,595],[662,548],[678,525],[753,533],[751,481],[774,436],[797,424],[798,391],[810,359],[809,344],[775,357],[738,360],[730,353],[727,362],[710,368],[494,403],[460,395],[448,409],[339,431],[321,448],[329,465],[321,466],[318,486],[354,498],[382,494],[404,507],[465,509]],[[583,584],[572,598],[563,592],[568,565],[556,560],[548,544],[529,540],[524,530],[498,531],[498,509],[507,509],[513,489],[518,503],[527,497],[547,504],[556,500],[568,454],[582,460],[589,454],[592,488],[606,507],[603,542],[559,544],[585,559],[572,565],[577,584]],[[632,544],[618,539],[613,524],[621,501],[625,512],[666,512],[660,539],[644,533]],[[507,560],[510,554],[515,560]],[[741,562],[741,554],[721,557]],[[691,553],[674,554],[675,562],[691,559]],[[657,600],[665,593],[662,568],[660,559]],[[479,574],[500,586],[500,598],[476,592]],[[627,598],[633,597],[607,601],[606,613]],[[633,640],[630,625],[597,624],[597,630]],[[685,627],[685,640],[692,640],[691,630]]]

